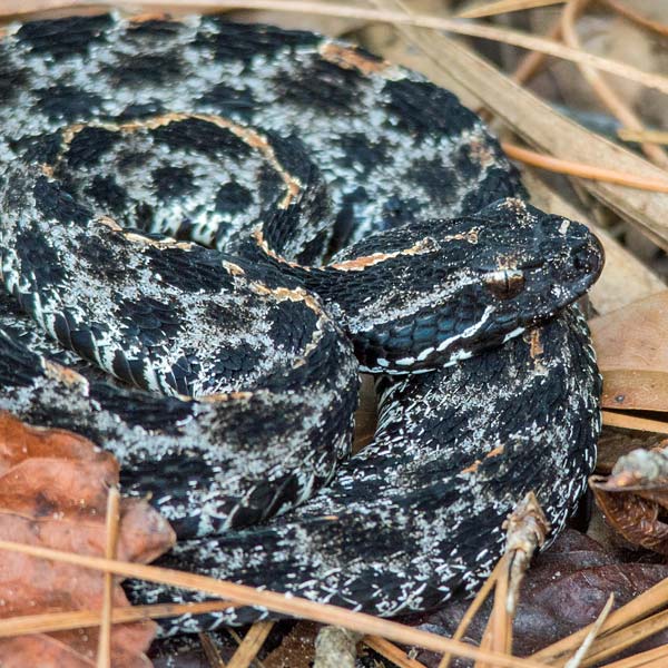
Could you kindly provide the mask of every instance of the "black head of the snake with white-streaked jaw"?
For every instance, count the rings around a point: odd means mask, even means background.
[[[412,373],[550,320],[602,264],[586,226],[508,198],[361,242],[330,265],[343,279],[325,301],[336,302],[363,370]]]

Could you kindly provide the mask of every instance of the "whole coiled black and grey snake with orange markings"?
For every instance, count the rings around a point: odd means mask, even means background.
[[[593,463],[572,304],[602,254],[523,197],[452,94],[343,42],[212,17],[9,26],[0,409],[111,451],[177,532],[167,566],[433,608],[489,573],[530,490],[559,531]],[[346,459],[360,370],[379,426]]]

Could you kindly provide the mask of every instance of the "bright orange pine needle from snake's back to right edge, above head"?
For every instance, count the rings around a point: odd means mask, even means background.
[[[579,176],[580,178],[605,181],[608,184],[617,184],[619,186],[627,186],[628,188],[651,190],[654,193],[668,193],[668,178],[652,179],[638,177],[632,174],[616,171],[615,169],[605,169],[602,167],[595,167],[593,165],[562,160],[561,158],[539,154],[515,146],[514,144],[509,144],[508,141],[503,141],[501,146],[511,158],[525,163],[527,165],[532,165],[533,167],[540,167],[541,169],[568,174],[569,176]]]

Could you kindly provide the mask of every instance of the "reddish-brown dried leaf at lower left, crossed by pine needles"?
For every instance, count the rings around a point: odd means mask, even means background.
[[[27,426],[0,412],[0,539],[102,556],[107,494],[118,484],[118,462],[82,436]],[[174,540],[169,524],[146,501],[122,500],[119,559],[146,563]],[[14,552],[2,554],[1,618],[97,609],[101,601],[100,573]],[[112,603],[129,605],[118,584]],[[115,626],[111,665],[149,666],[144,652],[155,629],[149,621]],[[97,641],[97,629],[0,639],[0,664],[90,667]]]

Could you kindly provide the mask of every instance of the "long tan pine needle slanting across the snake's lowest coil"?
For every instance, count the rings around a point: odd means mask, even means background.
[[[31,557],[71,563],[72,566],[80,566],[92,570],[108,571],[125,578],[137,578],[150,582],[181,587],[210,596],[223,597],[244,606],[264,607],[282,615],[311,619],[321,623],[342,626],[361,633],[382,636],[395,642],[416,645],[432,651],[451,651],[454,655],[473,660],[488,660],[500,668],[546,668],[544,665],[532,659],[521,659],[484,651],[464,642],[456,642],[449,638],[442,638],[436,633],[414,629],[364,612],[353,612],[327,603],[316,603],[307,599],[287,597],[275,591],[255,589],[245,584],[216,580],[215,578],[198,576],[196,573],[143,563],[115,561],[101,557],[72,554],[60,550],[39,548],[6,540],[0,540],[0,550],[9,550]]]

